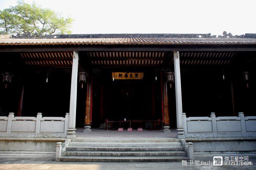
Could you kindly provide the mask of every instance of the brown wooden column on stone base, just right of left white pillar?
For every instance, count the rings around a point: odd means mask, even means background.
[[[85,126],[83,129],[84,133],[92,132],[91,130],[91,82],[87,81],[87,89],[86,89],[86,106],[85,106]]]

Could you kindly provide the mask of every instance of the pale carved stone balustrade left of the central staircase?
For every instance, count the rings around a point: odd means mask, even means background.
[[[69,113],[62,117],[0,116],[0,137],[66,138],[69,126]]]

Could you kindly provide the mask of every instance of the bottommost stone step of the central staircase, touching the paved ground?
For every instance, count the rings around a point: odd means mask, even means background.
[[[61,162],[181,162],[189,160],[187,156],[62,156]]]

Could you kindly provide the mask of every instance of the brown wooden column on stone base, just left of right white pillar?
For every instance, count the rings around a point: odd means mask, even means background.
[[[164,96],[164,133],[171,132],[170,130],[170,118],[169,118],[169,104],[168,104],[168,93],[167,93],[167,82],[164,81],[163,88]]]

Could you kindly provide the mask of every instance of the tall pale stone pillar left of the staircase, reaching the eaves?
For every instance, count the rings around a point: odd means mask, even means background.
[[[77,95],[77,78],[78,78],[78,51],[73,52],[70,105],[69,105],[69,128],[67,138],[75,138],[76,130],[76,95]]]

